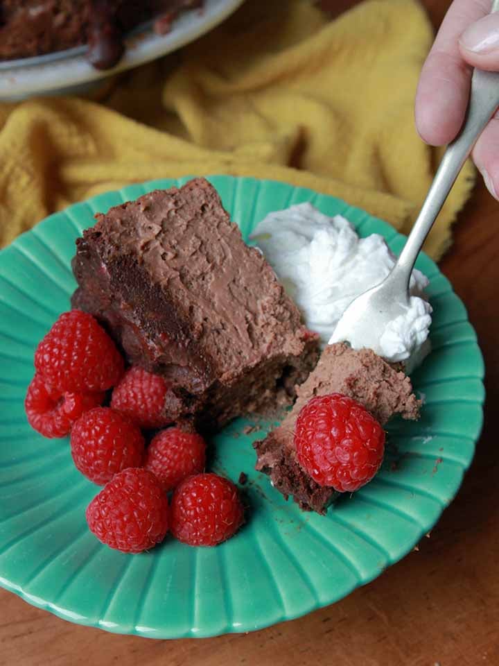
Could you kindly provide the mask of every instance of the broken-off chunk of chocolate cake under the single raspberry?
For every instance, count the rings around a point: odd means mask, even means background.
[[[409,377],[387,364],[370,349],[353,350],[345,343],[328,345],[317,367],[301,386],[297,401],[281,425],[254,447],[256,469],[270,476],[272,485],[285,497],[295,499],[301,509],[326,513],[338,493],[319,486],[297,461],[295,423],[301,408],[316,395],[342,393],[358,400],[381,425],[401,414],[417,419],[421,402],[412,393]]]

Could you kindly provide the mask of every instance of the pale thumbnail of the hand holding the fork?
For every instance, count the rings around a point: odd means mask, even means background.
[[[459,50],[469,65],[499,71],[499,12],[468,26],[459,37]]]

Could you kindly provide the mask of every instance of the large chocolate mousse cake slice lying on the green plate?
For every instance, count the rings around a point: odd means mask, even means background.
[[[318,336],[203,178],[96,215],[76,241],[73,307],[90,312],[130,364],[165,377],[172,420],[216,429],[291,402]]]

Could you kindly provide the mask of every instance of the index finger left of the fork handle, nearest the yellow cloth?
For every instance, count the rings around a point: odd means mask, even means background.
[[[491,0],[455,0],[441,24],[423,65],[416,95],[416,127],[428,144],[448,144],[462,126],[471,67],[462,56],[459,37],[490,8]]]

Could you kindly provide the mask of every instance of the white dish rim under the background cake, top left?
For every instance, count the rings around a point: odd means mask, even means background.
[[[126,51],[116,67],[100,71],[85,59],[85,46],[49,56],[1,63],[0,100],[37,94],[85,92],[119,71],[171,53],[204,35],[234,12],[243,0],[204,0],[202,10],[186,11],[175,19],[167,35],[156,35],[150,24],[126,40]]]

